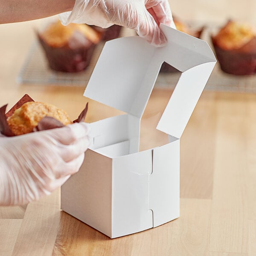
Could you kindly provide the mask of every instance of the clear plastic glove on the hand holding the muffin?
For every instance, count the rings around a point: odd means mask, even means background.
[[[0,205],[21,205],[49,195],[77,172],[88,148],[89,127],[0,137]]]

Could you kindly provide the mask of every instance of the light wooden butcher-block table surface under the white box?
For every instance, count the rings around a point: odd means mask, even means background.
[[[20,85],[15,79],[33,26],[0,25],[0,104],[28,93],[75,119],[81,87]],[[4,36],[3,36],[4,35]],[[256,84],[255,84],[256,86]],[[171,90],[154,89],[142,119],[141,150],[166,143],[155,126]],[[90,101],[87,122],[119,114]],[[180,145],[180,218],[109,239],[60,210],[59,190],[23,207],[0,207],[0,255],[256,255],[256,95],[205,91]]]

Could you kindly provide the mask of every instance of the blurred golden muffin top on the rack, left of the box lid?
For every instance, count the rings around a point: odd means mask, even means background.
[[[57,48],[67,45],[74,32],[80,32],[93,44],[100,41],[99,33],[90,26],[76,23],[63,26],[60,21],[52,23],[40,35],[49,46]]]

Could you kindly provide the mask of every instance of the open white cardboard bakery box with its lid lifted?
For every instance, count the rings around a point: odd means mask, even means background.
[[[139,37],[105,44],[84,96],[126,114],[91,123],[93,144],[61,187],[61,209],[111,238],[180,215],[180,137],[216,59],[205,41],[161,29],[164,47]],[[157,125],[169,143],[139,152],[140,119],[163,61],[182,72]]]

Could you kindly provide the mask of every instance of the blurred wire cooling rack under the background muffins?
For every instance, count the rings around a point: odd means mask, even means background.
[[[122,35],[126,35],[123,32]],[[131,35],[131,32],[128,32]],[[205,37],[205,36],[204,36]],[[205,38],[204,38],[205,39]],[[85,71],[78,73],[56,72],[48,67],[47,60],[41,46],[35,42],[29,49],[26,60],[17,77],[21,84],[43,84],[46,86],[81,86],[85,87],[99,58],[103,43],[96,46],[90,65]],[[155,87],[174,88],[180,77],[180,73],[160,73]],[[256,93],[256,75],[234,76],[220,70],[219,64],[214,70],[205,87],[206,90]]]

